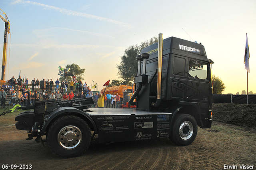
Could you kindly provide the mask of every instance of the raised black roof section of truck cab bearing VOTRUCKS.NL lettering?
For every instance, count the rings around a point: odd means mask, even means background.
[[[150,54],[149,60],[158,57],[158,42],[141,50],[142,53]],[[202,44],[176,37],[169,37],[163,40],[163,56],[170,53],[210,61]]]

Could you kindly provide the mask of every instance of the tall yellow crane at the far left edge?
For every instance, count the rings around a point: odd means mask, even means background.
[[[1,9],[0,9],[1,10]],[[3,52],[3,64],[2,64],[2,77],[0,82],[3,83],[5,82],[4,77],[5,77],[5,67],[6,67],[6,56],[7,56],[7,46],[8,46],[8,34],[10,34],[10,21],[6,15],[6,13],[4,13],[3,10],[1,10],[2,12],[0,12],[0,18],[4,21],[5,23],[5,27],[4,27],[4,52]],[[4,17],[2,17],[2,15]]]

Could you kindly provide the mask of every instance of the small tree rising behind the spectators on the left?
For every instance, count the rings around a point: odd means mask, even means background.
[[[84,75],[85,72],[85,68],[80,68],[80,66],[78,66],[77,64],[68,64],[65,66],[66,68],[70,68],[69,73],[73,74],[74,76],[76,76],[76,80],[84,80],[84,78],[82,77]],[[67,76],[67,77],[63,77],[60,76],[60,81],[62,80],[68,80],[69,82],[72,81],[72,77],[71,76]]]

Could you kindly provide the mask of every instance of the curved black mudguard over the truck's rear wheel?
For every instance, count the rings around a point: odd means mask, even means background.
[[[60,114],[70,114],[70,113],[73,113],[73,114],[80,114],[82,115],[84,118],[86,118],[87,120],[85,120],[88,124],[92,124],[93,128],[94,128],[94,132],[95,133],[98,133],[98,130],[97,130],[97,127],[96,127],[96,124],[94,123],[94,121],[92,120],[92,118],[90,116],[88,116],[88,114],[86,114],[86,112],[83,112],[77,108],[73,108],[73,107],[62,107],[62,108],[58,108],[56,110],[54,110],[53,112],[51,112],[48,116],[46,116],[44,118],[44,124],[42,126],[42,129],[41,129],[41,135],[44,135],[44,132],[46,130],[46,128],[48,127],[48,125],[50,124],[50,122],[52,122],[52,120],[54,118],[56,118],[56,116],[60,115]]]

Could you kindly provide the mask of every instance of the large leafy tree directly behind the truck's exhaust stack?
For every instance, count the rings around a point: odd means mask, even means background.
[[[136,56],[140,54],[142,49],[156,42],[158,42],[158,38],[153,37],[150,40],[141,42],[140,45],[129,46],[124,50],[124,55],[121,56],[121,63],[117,65],[118,75],[119,78],[124,79],[123,83],[126,83],[126,85],[131,85],[132,82],[134,82],[138,67]]]

